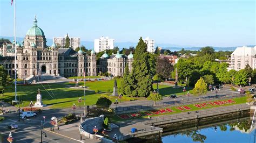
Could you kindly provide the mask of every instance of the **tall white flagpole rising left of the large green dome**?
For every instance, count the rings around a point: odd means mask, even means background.
[[[17,56],[17,50],[16,50],[16,0],[14,0],[14,48],[15,48],[15,101],[17,102],[17,61],[16,61],[16,56]]]

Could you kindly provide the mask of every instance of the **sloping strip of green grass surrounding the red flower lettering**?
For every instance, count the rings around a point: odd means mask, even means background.
[[[222,100],[216,100],[216,101],[222,101]],[[221,107],[221,106],[230,106],[230,105],[235,105],[235,104],[242,104],[242,103],[246,103],[246,97],[233,98],[233,101],[235,101],[235,103],[218,105],[218,106],[206,106],[205,108],[197,108],[196,106],[193,106],[194,104],[188,104],[188,105],[184,105],[184,106],[188,106],[191,109],[190,110],[184,110],[184,111],[181,111],[181,110],[177,109],[177,107],[179,107],[179,106],[174,106],[174,107],[169,108],[169,109],[172,109],[173,112],[159,113],[158,115],[151,115],[151,117],[157,117],[157,116],[163,116],[163,115],[172,115],[172,114],[181,113],[181,112],[198,111],[198,110],[205,110],[205,109],[210,109],[210,108],[217,108],[217,107]],[[210,102],[210,101],[208,101],[208,102]],[[213,101],[211,101],[211,102],[213,102]],[[166,109],[166,108],[161,108],[161,109]],[[135,113],[138,113],[138,112],[135,112]],[[142,117],[131,117],[129,119],[122,119],[118,116],[114,116],[114,117],[112,117],[112,121],[142,119],[142,118],[147,118],[148,117],[147,115],[145,115],[144,112],[139,112],[139,113],[142,114],[143,116]],[[127,113],[126,115],[129,115],[129,114],[130,113]]]

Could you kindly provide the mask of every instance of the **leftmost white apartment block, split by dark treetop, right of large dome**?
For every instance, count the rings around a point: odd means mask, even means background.
[[[53,37],[53,43],[55,43],[57,46],[64,47],[66,44],[67,35],[68,34],[64,35],[64,37]],[[69,37],[69,41],[71,48],[76,49],[77,47],[80,47],[80,38]]]

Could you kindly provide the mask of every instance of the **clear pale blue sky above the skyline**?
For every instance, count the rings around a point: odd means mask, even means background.
[[[0,36],[14,35],[10,2],[0,1]],[[16,0],[17,37],[25,37],[36,15],[50,39],[68,32],[85,41],[104,35],[117,42],[142,36],[187,46],[255,45],[255,9],[254,0]]]

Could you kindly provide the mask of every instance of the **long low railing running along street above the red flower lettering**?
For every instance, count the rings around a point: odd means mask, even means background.
[[[182,101],[170,101],[172,103],[159,103],[156,106],[153,104],[150,105],[136,105],[136,106],[130,106],[130,107],[118,107],[116,110],[117,114],[122,113],[130,113],[130,112],[136,112],[136,111],[146,111],[146,110],[153,110],[153,109],[159,109],[159,108],[167,108],[167,107],[173,107],[173,106],[183,106],[188,104],[195,104],[195,103],[202,103],[207,101],[213,101],[213,100],[220,100],[220,99],[230,99],[235,97],[242,97],[245,96],[244,94],[228,94],[228,95],[218,95],[218,98],[216,96],[207,96],[207,97],[201,97],[196,99],[190,99],[189,101],[185,101],[186,98],[183,98]],[[179,103],[180,102],[180,103]]]

